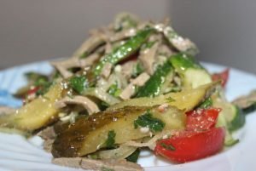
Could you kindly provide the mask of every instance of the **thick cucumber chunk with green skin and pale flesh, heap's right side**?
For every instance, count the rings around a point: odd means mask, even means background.
[[[212,82],[212,78],[207,71],[188,54],[174,54],[171,62],[177,73],[182,77],[183,87],[185,88],[197,88]]]

